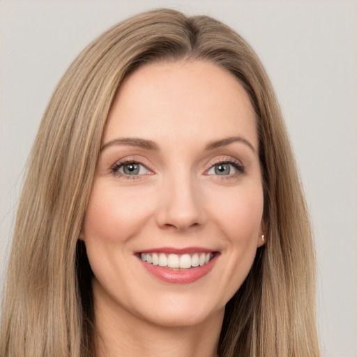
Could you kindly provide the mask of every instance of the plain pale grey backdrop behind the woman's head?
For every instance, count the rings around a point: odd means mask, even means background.
[[[160,6],[217,17],[261,57],[314,225],[321,349],[357,357],[357,1],[0,0],[1,282],[26,158],[56,82],[102,31]]]

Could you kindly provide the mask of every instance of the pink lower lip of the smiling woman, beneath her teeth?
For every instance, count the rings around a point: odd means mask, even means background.
[[[146,261],[142,261],[142,259],[140,259],[140,261],[144,268],[146,268],[146,271],[149,271],[155,278],[158,278],[163,282],[169,282],[171,284],[189,284],[208,274],[212,270],[217,259],[218,255],[215,255],[207,264],[185,270],[172,270],[167,267],[164,268],[162,266],[146,263]]]

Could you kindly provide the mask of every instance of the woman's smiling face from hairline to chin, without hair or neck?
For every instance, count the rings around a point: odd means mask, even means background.
[[[177,61],[123,82],[81,234],[96,306],[164,326],[222,317],[262,213],[255,114],[233,75]]]

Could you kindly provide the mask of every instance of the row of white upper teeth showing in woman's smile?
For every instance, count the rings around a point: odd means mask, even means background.
[[[142,253],[142,261],[158,266],[168,266],[169,268],[188,269],[191,267],[204,266],[213,258],[212,253],[194,253],[193,255],[169,254],[165,253]]]

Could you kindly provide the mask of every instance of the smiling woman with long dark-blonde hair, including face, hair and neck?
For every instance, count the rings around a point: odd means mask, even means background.
[[[319,356],[278,102],[210,17],[109,29],[56,87],[17,213],[1,356]]]

